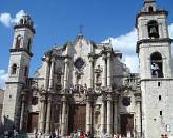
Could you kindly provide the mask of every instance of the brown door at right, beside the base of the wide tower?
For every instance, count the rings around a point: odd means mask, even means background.
[[[127,136],[134,136],[134,115],[133,114],[121,114],[121,134]]]

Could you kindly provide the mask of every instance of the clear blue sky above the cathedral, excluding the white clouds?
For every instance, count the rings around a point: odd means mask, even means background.
[[[169,24],[173,23],[173,0],[157,0],[157,3],[169,11]],[[85,37],[96,42],[108,38],[124,40],[124,36],[127,39],[129,34],[133,35],[136,13],[142,5],[143,0],[1,0],[0,15],[8,13],[15,18],[24,10],[32,16],[36,26],[30,70],[33,74],[41,65],[45,50],[55,43],[75,39],[80,24],[84,26]],[[6,73],[12,40],[13,27],[0,22],[0,75]],[[125,48],[127,51],[128,44]]]

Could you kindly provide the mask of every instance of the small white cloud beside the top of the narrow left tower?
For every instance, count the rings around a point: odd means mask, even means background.
[[[5,25],[5,27],[9,28],[14,23],[17,23],[23,15],[25,15],[24,10],[17,12],[14,18],[12,17],[11,13],[0,13],[0,22]]]

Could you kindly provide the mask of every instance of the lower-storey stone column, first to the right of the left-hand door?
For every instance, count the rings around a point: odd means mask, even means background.
[[[39,119],[39,126],[40,126],[40,132],[44,133],[44,127],[45,127],[45,92],[41,93],[40,98],[40,119]]]

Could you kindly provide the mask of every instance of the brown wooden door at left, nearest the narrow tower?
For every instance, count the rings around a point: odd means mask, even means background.
[[[27,132],[33,133],[38,129],[38,113],[29,113],[27,121]]]

